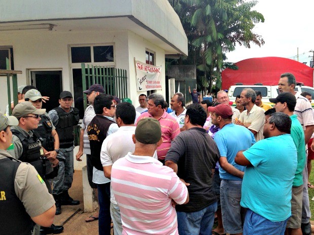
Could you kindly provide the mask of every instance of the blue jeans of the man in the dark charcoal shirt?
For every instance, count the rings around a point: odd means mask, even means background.
[[[178,231],[180,235],[208,235],[214,224],[217,202],[197,212],[179,212]]]

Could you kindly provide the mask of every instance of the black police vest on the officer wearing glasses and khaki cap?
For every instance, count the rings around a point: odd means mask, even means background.
[[[36,137],[35,133],[33,133],[32,137],[25,137],[20,131],[16,129],[12,129],[11,131],[20,139],[20,142],[22,144],[23,153],[22,156],[19,157],[19,160],[22,162],[28,162],[33,165],[38,174],[40,174],[42,178],[45,178],[46,164],[48,160],[42,159],[42,144],[40,140]]]

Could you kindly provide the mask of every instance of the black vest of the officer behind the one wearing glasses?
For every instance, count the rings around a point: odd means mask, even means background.
[[[51,136],[52,123],[45,114],[41,115],[41,120],[38,123],[38,128],[33,130],[36,135],[40,138],[42,146],[47,151],[53,151],[54,148],[54,138]]]

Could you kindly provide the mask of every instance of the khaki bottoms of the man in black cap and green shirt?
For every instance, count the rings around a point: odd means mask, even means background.
[[[292,187],[291,217],[287,222],[288,228],[300,228],[302,217],[303,184]]]

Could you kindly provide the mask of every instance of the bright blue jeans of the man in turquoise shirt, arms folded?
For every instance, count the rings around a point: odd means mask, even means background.
[[[243,235],[284,235],[288,219],[272,222],[248,209],[244,220]]]

